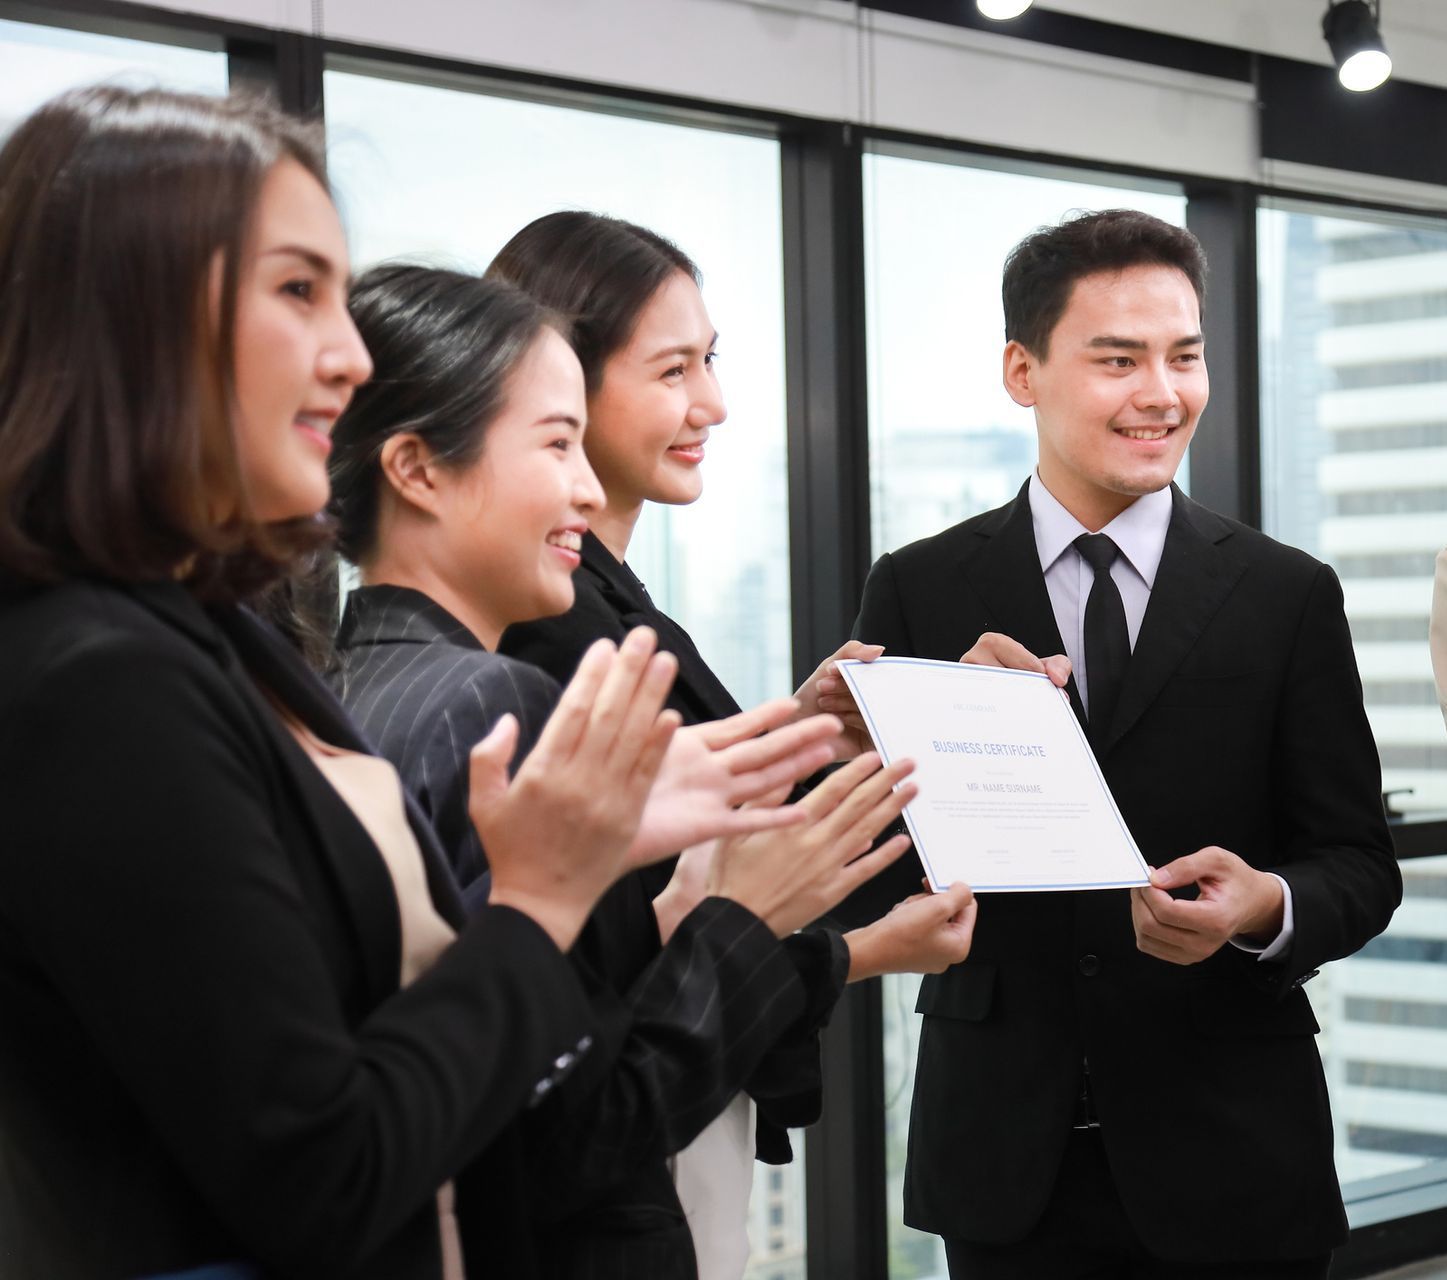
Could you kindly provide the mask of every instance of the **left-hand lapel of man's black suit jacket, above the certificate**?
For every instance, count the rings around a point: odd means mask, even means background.
[[[975,535],[987,541],[949,576],[949,581],[964,580],[974,589],[990,619],[987,629],[1009,635],[1042,658],[1064,654],[1065,644],[1035,545],[1029,482],[1013,502],[984,516],[975,526]],[[1075,691],[1075,677],[1071,677],[1066,693],[1084,723],[1085,712]]]

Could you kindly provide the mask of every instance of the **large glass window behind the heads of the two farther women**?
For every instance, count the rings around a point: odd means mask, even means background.
[[[360,266],[482,270],[532,218],[586,208],[674,240],[703,270],[728,422],[703,498],[650,505],[628,560],[745,706],[790,684],[780,158],[771,137],[334,68],[331,176]],[[803,1141],[758,1166],[751,1280],[803,1280]]]

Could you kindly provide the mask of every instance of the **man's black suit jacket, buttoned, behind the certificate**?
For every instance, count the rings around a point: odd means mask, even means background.
[[[855,625],[946,661],[984,632],[1064,652],[1026,489],[881,557]],[[969,959],[920,988],[906,1221],[1026,1235],[1088,1059],[1116,1185],[1155,1253],[1321,1254],[1346,1219],[1301,984],[1401,900],[1331,570],[1174,490],[1101,767],[1150,865],[1220,845],[1276,872],[1295,939],[1276,962],[1227,944],[1178,966],[1136,949],[1123,891],[983,898]]]

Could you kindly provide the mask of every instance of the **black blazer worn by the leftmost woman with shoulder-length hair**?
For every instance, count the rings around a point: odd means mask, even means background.
[[[410,811],[460,934],[398,989],[386,865],[260,688],[368,748],[245,610],[13,590],[0,652],[0,1276],[440,1280],[437,1189],[595,1030],[567,960]]]

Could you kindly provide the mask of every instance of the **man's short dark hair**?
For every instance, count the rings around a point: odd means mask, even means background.
[[[1004,336],[1042,360],[1075,282],[1132,266],[1179,270],[1205,307],[1205,252],[1184,227],[1134,208],[1082,213],[1026,236],[1004,260]]]

